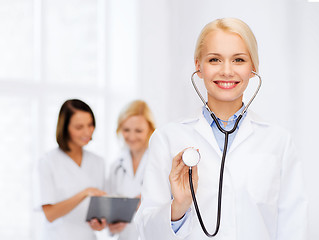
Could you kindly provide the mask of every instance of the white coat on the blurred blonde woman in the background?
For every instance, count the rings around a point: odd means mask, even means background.
[[[110,178],[107,183],[108,194],[124,197],[136,197],[141,194],[146,153],[144,153],[134,175],[130,151],[127,147],[123,149],[119,158],[111,166]],[[138,232],[134,222],[128,224],[119,234],[119,240],[137,239]]]

